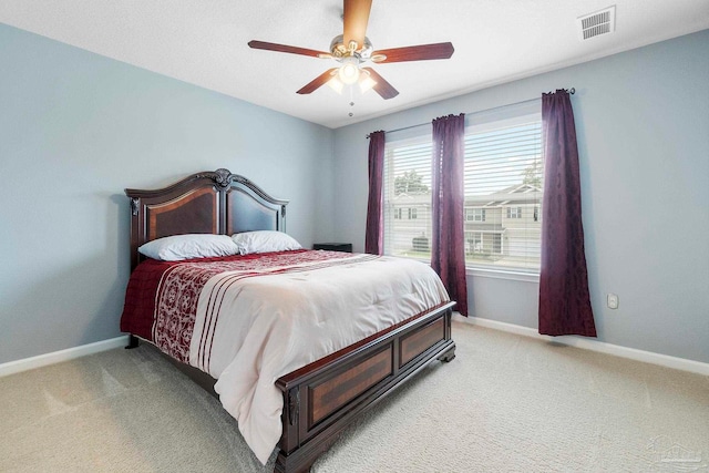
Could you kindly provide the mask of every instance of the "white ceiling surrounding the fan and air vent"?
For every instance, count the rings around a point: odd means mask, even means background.
[[[613,4],[616,32],[580,41],[576,19]],[[400,92],[388,101],[328,86],[298,95],[337,63],[246,44],[328,51],[341,14],[341,0],[0,2],[6,24],[332,128],[709,29],[709,0],[374,0],[374,50],[455,48],[450,60],[374,65]]]

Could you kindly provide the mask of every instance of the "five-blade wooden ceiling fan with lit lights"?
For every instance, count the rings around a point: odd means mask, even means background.
[[[425,61],[431,59],[449,59],[453,55],[453,44],[450,42],[374,50],[369,38],[364,35],[371,7],[372,0],[345,0],[345,13],[342,16],[342,22],[345,23],[343,34],[339,34],[332,39],[330,52],[257,40],[249,41],[248,45],[253,49],[287,52],[320,59],[335,59],[340,63],[338,68],[325,71],[306,84],[297,92],[299,94],[309,94],[326,83],[338,92],[341,92],[345,84],[358,83],[362,92],[373,89],[384,100],[399,95],[399,91],[372,68],[362,68],[362,63],[367,61],[378,64]]]

